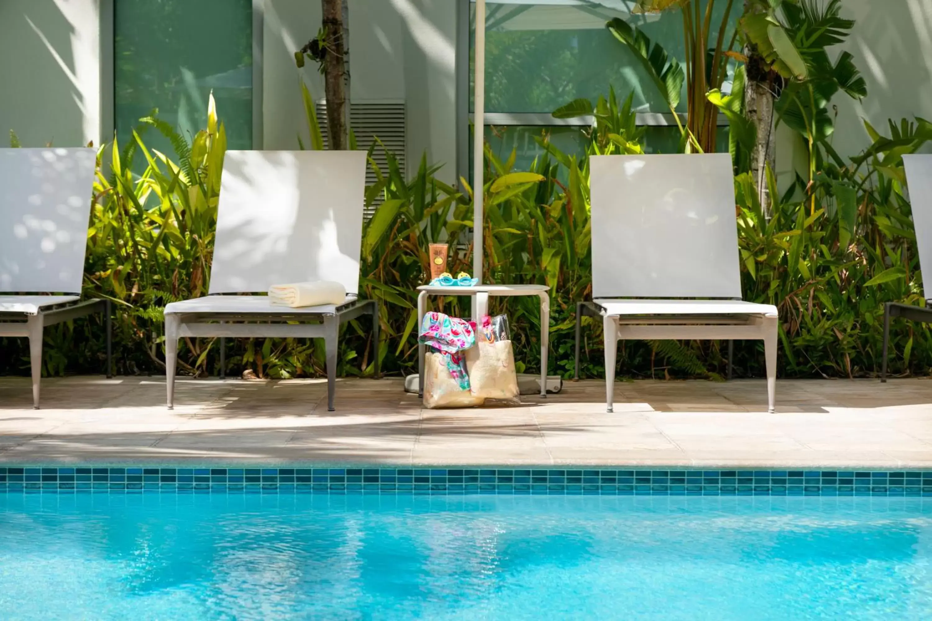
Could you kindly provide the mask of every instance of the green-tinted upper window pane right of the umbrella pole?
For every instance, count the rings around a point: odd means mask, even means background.
[[[720,24],[726,3],[717,3],[713,24]],[[504,0],[486,11],[486,111],[550,113],[580,97],[593,101],[615,88],[620,100],[634,92],[640,112],[667,113],[665,102],[633,54],[605,24],[621,18],[651,41],[684,59],[683,20],[678,10],[632,14],[623,0]],[[475,7],[470,5],[471,62]],[[732,27],[743,8],[734,3]],[[718,36],[713,26],[712,37]],[[473,69],[470,70],[473,79]],[[686,112],[685,84],[678,110]],[[472,84],[470,87],[470,110]]]

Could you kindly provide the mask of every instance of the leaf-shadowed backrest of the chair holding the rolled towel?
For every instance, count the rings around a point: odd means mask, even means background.
[[[334,280],[359,292],[365,152],[227,151],[210,293]]]

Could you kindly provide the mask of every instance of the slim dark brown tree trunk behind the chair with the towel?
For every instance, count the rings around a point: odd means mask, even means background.
[[[323,90],[327,98],[327,137],[330,148],[348,148],[346,121],[346,47],[343,39],[344,0],[321,0],[323,35],[327,54],[323,59]]]

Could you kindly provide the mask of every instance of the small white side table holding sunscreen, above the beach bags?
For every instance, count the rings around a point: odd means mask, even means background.
[[[424,322],[429,295],[468,295],[474,320],[485,317],[488,309],[488,297],[511,295],[536,295],[541,298],[541,397],[547,397],[547,348],[550,341],[550,296],[545,285],[476,285],[475,287],[418,287],[418,334]],[[418,344],[418,395],[424,396],[424,345]]]

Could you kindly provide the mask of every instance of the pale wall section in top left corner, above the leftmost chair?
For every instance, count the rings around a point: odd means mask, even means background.
[[[0,131],[22,146],[83,146],[99,131],[95,0],[0,2]],[[15,61],[11,61],[15,60]]]

